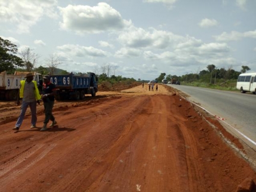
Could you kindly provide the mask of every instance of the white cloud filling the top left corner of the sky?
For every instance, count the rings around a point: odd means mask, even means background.
[[[28,33],[30,27],[35,25],[43,15],[56,15],[53,11],[53,6],[56,4],[56,0],[1,0],[0,22],[14,23],[17,25],[17,33]]]

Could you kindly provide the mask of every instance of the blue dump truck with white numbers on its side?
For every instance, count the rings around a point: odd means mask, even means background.
[[[85,94],[94,97],[98,91],[97,79],[94,73],[50,75],[51,82],[56,86],[55,99],[83,99]]]

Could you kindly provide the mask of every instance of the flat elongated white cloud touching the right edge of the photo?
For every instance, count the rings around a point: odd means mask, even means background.
[[[238,31],[231,31],[231,33],[223,32],[221,35],[213,36],[217,41],[237,41],[244,37],[256,38],[256,30],[247,31],[244,33]]]

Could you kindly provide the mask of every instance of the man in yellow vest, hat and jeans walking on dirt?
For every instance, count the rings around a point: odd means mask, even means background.
[[[22,125],[28,106],[31,111],[31,127],[36,127],[36,103],[40,104],[41,96],[39,94],[36,81],[33,81],[33,73],[26,75],[26,80],[20,81],[20,88],[17,96],[17,104],[19,104],[19,97],[22,98],[22,106],[20,108],[20,114],[13,130],[18,131]]]

